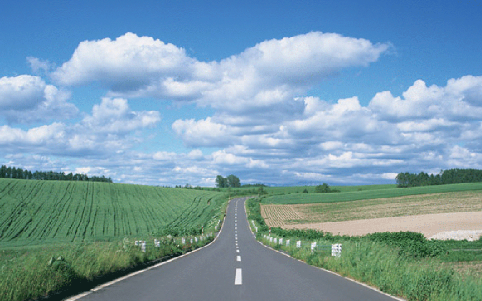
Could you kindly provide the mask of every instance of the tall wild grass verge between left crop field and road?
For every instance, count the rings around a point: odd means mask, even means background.
[[[160,247],[154,247],[152,237],[146,241],[145,253],[127,239],[0,251],[0,300],[21,301],[52,295],[61,299],[156,260],[201,247],[212,241],[212,237],[193,244],[166,239]]]

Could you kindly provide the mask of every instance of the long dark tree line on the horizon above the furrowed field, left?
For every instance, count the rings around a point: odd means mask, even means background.
[[[105,178],[104,176],[90,176],[83,174],[64,174],[63,172],[42,172],[42,171],[32,171],[24,170],[22,168],[7,167],[2,165],[0,167],[0,178],[6,179],[24,179],[24,180],[57,180],[57,181],[91,181],[91,182],[106,182],[112,183],[112,179]]]

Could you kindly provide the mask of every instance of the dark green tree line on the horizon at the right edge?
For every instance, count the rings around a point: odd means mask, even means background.
[[[424,172],[420,172],[419,174],[399,173],[396,180],[397,187],[478,183],[482,182],[482,170],[453,168],[450,170],[441,170],[437,175],[428,175]]]

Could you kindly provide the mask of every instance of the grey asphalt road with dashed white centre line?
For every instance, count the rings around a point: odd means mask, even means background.
[[[244,202],[231,200],[217,239],[78,300],[395,300],[262,246]]]

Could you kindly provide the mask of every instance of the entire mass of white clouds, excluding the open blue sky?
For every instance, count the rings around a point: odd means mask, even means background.
[[[320,81],[367,68],[391,48],[311,32],[201,62],[132,33],[84,41],[49,73],[53,84],[32,75],[0,79],[0,110],[11,122],[58,116],[41,126],[0,127],[0,146],[12,164],[39,162],[155,185],[213,186],[216,175],[231,173],[245,183],[394,183],[398,172],[482,168],[482,76],[448,79],[442,87],[419,79],[401,96],[376,91],[367,105],[356,95],[336,101],[307,95]],[[108,92],[81,114],[66,91],[85,85]],[[194,103],[214,113],[167,125],[187,152],[149,150],[147,133],[164,130],[161,113],[130,109],[136,98],[160,106]],[[78,121],[65,119],[75,114]]]

